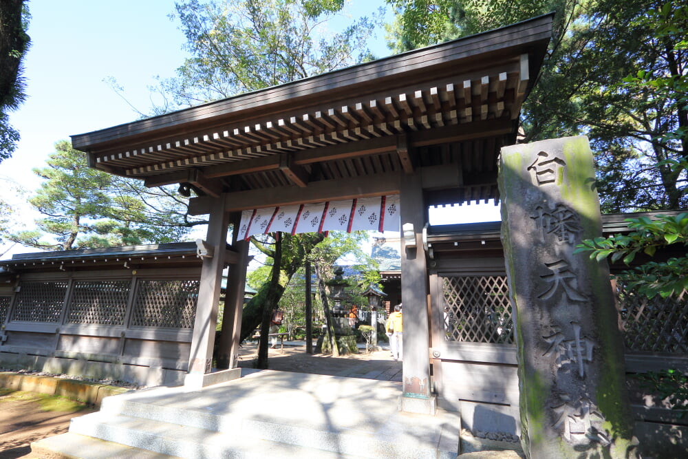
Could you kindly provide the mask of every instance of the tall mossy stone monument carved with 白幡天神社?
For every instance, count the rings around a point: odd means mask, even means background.
[[[586,137],[502,148],[502,241],[529,458],[634,457],[623,344]]]

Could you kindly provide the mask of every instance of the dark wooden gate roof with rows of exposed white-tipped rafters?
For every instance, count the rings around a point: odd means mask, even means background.
[[[402,173],[418,168],[436,182],[428,204],[495,198],[497,154],[515,141],[551,23],[548,14],[72,136],[72,145],[93,167],[149,186],[235,193],[228,210],[324,201],[324,189],[357,179],[356,196],[392,194]],[[266,189],[275,193],[256,193]],[[192,211],[206,213],[204,201]]]

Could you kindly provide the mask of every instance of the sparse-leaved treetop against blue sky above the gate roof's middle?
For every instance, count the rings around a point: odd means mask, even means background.
[[[343,0],[189,0],[176,4],[191,54],[176,78],[161,81],[178,106],[290,83],[359,63],[377,19],[323,36]]]

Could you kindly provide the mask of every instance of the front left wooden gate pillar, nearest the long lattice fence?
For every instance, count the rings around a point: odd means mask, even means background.
[[[184,381],[186,386],[204,385],[203,375],[211,372],[219,290],[227,246],[227,225],[228,216],[224,211],[224,195],[221,195],[219,198],[214,198],[211,204],[206,244],[213,247],[213,254],[203,259],[201,268],[201,284],[198,289],[196,318],[189,355],[189,373]]]

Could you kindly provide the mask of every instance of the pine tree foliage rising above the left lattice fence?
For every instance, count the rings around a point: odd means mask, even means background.
[[[148,191],[138,181],[88,167],[86,154],[57,142],[47,167],[34,173],[45,181],[29,199],[45,217],[36,229],[9,236],[47,250],[177,242],[189,232],[184,198],[171,189]]]

